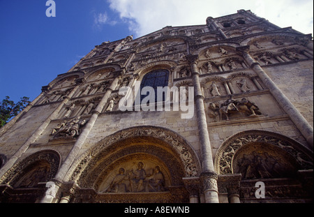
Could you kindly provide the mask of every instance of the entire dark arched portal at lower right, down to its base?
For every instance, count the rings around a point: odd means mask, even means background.
[[[220,193],[238,195],[241,202],[313,200],[311,151],[278,133],[247,130],[232,135],[216,153],[215,170]],[[255,195],[257,182],[264,185],[263,197]]]

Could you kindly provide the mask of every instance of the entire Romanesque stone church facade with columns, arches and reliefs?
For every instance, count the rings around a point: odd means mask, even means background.
[[[1,202],[313,202],[313,40],[250,10],[96,45],[0,129]]]

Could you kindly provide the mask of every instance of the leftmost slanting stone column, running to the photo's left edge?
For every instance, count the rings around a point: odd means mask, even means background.
[[[52,112],[52,114],[50,114],[50,116],[47,117],[47,119],[43,122],[43,124],[41,124],[37,128],[37,130],[35,130],[35,132],[29,137],[29,139],[26,142],[24,142],[24,144],[22,144],[20,149],[18,149],[15,152],[15,154],[10,158],[10,160],[8,160],[8,162],[5,165],[3,165],[3,167],[0,170],[0,177],[2,177],[3,174],[5,174],[5,172],[14,165],[16,160],[20,158],[22,154],[24,154],[24,152],[27,151],[27,149],[29,149],[29,145],[33,144],[33,142],[35,142],[38,139],[38,137],[40,137],[40,135],[45,131],[47,126],[50,124],[50,121],[52,121],[53,119],[57,119],[63,105],[66,105],[66,103],[68,103],[68,100],[72,98],[73,94],[75,93],[75,91],[77,91],[78,87],[79,87],[78,85],[74,87],[72,91],[70,91],[68,96],[64,97],[64,99],[61,101],[59,106],[54,110],[54,112]]]

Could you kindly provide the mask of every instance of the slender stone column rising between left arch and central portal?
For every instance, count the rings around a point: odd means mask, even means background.
[[[96,109],[93,111],[91,118],[87,122],[85,128],[82,130],[82,133],[80,134],[80,136],[77,138],[77,140],[76,140],[75,144],[73,145],[70,153],[66,157],[66,160],[64,160],[63,164],[61,165],[61,167],[60,167],[59,171],[57,172],[56,176],[54,177],[54,179],[57,179],[59,181],[63,181],[63,178],[66,175],[66,172],[68,172],[70,165],[72,165],[73,161],[77,157],[77,154],[79,153],[82,145],[84,144],[84,142],[87,138],[87,135],[89,135],[91,128],[93,128],[93,126],[96,122],[96,119],[98,118],[98,115],[100,114],[100,112],[102,112],[102,110],[103,110],[105,104],[107,103],[107,100],[110,97],[112,91],[114,89],[116,89],[117,84],[119,82],[119,79],[120,79],[120,73],[119,73],[119,75],[117,75],[114,78],[112,84],[110,85],[110,87],[105,92],[105,95],[103,96],[103,98],[98,103]]]

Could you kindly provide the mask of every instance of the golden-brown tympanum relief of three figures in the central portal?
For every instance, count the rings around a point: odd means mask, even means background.
[[[158,162],[140,160],[126,162],[112,171],[100,185],[100,193],[144,193],[167,190],[170,179]]]

